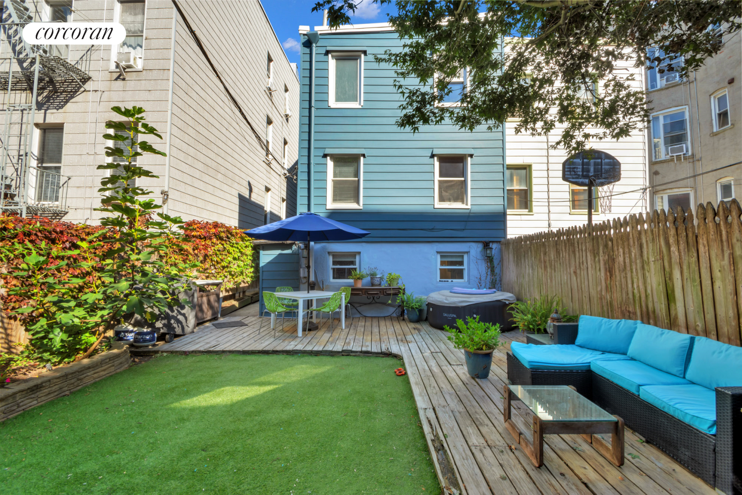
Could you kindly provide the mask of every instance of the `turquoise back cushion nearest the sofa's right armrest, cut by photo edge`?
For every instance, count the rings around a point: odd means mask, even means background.
[[[686,378],[710,389],[742,386],[742,347],[696,337]]]

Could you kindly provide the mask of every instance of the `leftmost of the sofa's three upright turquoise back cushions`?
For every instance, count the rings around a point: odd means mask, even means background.
[[[603,353],[626,354],[638,323],[640,321],[581,315],[574,344]]]

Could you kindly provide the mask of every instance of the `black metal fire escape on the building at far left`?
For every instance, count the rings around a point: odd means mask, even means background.
[[[0,88],[5,91],[0,108],[0,214],[61,218],[68,212],[70,177],[60,173],[61,167],[55,171],[33,166],[30,140],[36,112],[58,110],[85,91],[91,76],[80,67],[89,70],[91,50],[73,65],[50,54],[46,46],[28,45],[22,31],[33,22],[33,12],[24,0],[5,0],[0,21]]]

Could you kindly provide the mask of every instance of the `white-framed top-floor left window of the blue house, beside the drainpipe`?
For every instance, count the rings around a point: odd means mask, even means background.
[[[361,108],[364,105],[364,54],[329,54],[327,104],[331,108]]]

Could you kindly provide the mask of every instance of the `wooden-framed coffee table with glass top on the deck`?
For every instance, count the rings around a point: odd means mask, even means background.
[[[623,419],[611,416],[568,385],[505,385],[505,427],[536,468],[544,464],[544,435],[579,434],[617,466],[623,465]],[[533,439],[510,419],[510,401],[519,400],[533,415]],[[611,445],[597,433],[611,433]]]

